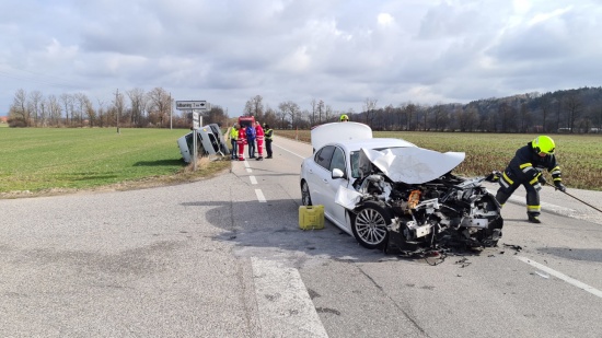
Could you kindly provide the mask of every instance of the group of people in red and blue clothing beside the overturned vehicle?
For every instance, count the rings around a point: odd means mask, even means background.
[[[232,160],[244,161],[244,145],[248,145],[248,158],[257,161],[264,160],[264,141],[267,152],[266,159],[271,159],[271,142],[274,130],[269,125],[251,123],[248,126],[232,126],[230,130],[230,143],[232,144]],[[257,145],[258,156],[255,156],[255,144]],[[238,154],[238,158],[236,158]]]

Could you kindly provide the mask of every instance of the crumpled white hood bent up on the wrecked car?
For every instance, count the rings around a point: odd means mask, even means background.
[[[359,171],[362,176],[370,174],[370,163],[386,177],[396,183],[422,184],[439,178],[460,165],[466,154],[428,150],[418,147],[393,148],[384,151],[362,148],[359,156]]]

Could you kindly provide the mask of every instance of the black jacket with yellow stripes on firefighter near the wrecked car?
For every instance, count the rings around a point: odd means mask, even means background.
[[[522,182],[529,182],[531,185],[537,184],[543,170],[547,170],[552,174],[554,184],[563,180],[560,166],[556,162],[556,156],[554,154],[540,156],[533,150],[532,142],[517,150],[517,154],[508,164],[507,170],[511,171]]]

